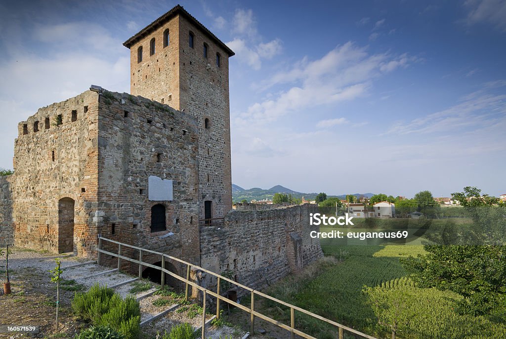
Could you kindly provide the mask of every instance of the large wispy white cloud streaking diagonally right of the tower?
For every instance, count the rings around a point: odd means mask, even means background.
[[[238,123],[254,120],[264,123],[277,120],[292,111],[309,106],[349,101],[364,95],[372,80],[396,68],[407,67],[416,58],[406,54],[368,54],[366,47],[352,42],[337,46],[318,60],[307,58],[279,72],[261,84],[263,89],[293,83],[272,98],[248,107],[237,118]]]

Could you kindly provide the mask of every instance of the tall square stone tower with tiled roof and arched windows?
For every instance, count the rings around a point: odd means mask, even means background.
[[[224,217],[232,209],[228,58],[234,52],[179,5],[123,45],[130,49],[131,93],[197,119],[199,218]]]

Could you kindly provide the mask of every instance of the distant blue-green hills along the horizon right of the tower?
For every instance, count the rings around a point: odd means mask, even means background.
[[[248,202],[251,200],[264,200],[264,199],[270,200],[270,199],[272,199],[272,197],[274,197],[274,193],[284,193],[286,195],[291,194],[291,196],[293,198],[302,199],[302,197],[304,197],[304,199],[306,199],[306,200],[314,200],[316,198],[316,196],[318,195],[318,193],[316,193],[316,192],[303,193],[303,192],[298,192],[298,191],[292,190],[290,188],[286,188],[281,185],[276,185],[276,186],[273,186],[269,189],[262,189],[260,187],[253,187],[253,188],[249,188],[249,189],[244,189],[236,184],[232,184],[232,201],[234,201],[234,202],[240,202],[242,200],[247,200]],[[364,196],[364,197],[370,198],[373,196],[373,193],[363,193],[363,194],[356,193],[356,194],[354,194],[354,196],[356,196],[356,197]],[[346,199],[346,195],[341,195],[341,196],[330,196],[329,195],[328,196],[328,198],[332,198],[332,197]]]

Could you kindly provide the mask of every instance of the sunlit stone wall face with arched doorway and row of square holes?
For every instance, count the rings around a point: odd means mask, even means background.
[[[86,91],[19,123],[11,180],[16,246],[66,252],[67,243],[94,255],[96,232],[87,220],[97,204],[97,118],[98,94]],[[74,210],[62,211],[61,199],[73,200]]]

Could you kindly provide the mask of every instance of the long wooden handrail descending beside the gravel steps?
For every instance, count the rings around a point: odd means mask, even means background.
[[[112,253],[112,252],[109,252],[109,251],[105,251],[102,249],[103,247],[103,241],[108,241],[109,243],[112,243],[112,244],[116,244],[118,245],[118,253]],[[136,260],[136,259],[133,259],[133,258],[129,258],[129,257],[126,257],[126,256],[123,256],[122,253],[124,253],[123,248],[124,247],[128,247],[128,248],[132,248],[132,249],[135,249],[135,250],[138,250],[140,251],[139,252],[139,260]],[[162,266],[163,267],[160,267],[160,266],[156,266],[156,265],[153,265],[153,264],[149,264],[147,262],[144,262],[142,261],[142,254],[144,252],[147,252],[147,253],[152,253],[152,254],[155,254],[155,255],[159,255],[162,257]],[[301,313],[304,313],[306,315],[309,315],[313,318],[316,318],[318,320],[321,320],[321,321],[324,321],[330,325],[333,325],[335,327],[338,328],[339,330],[339,339],[343,339],[344,337],[344,334],[343,334],[343,330],[346,330],[346,331],[349,331],[351,333],[354,333],[354,334],[357,334],[357,335],[360,335],[361,337],[363,338],[367,338],[367,339],[377,339],[373,336],[370,336],[368,334],[365,334],[365,333],[362,333],[360,331],[357,331],[351,327],[348,327],[348,326],[345,326],[343,324],[340,324],[338,322],[335,322],[335,321],[332,321],[330,319],[327,319],[327,318],[324,318],[318,314],[315,314],[313,312],[310,312],[310,311],[307,311],[303,308],[300,308],[300,307],[297,307],[295,305],[291,305],[289,303],[286,303],[282,300],[279,300],[277,298],[274,298],[274,297],[271,297],[269,295],[266,295],[265,293],[262,293],[262,292],[259,292],[258,290],[255,290],[251,287],[248,287],[246,285],[243,285],[243,284],[240,284],[238,283],[237,281],[234,281],[232,279],[229,279],[227,277],[224,277],[223,275],[220,275],[220,274],[217,274],[215,272],[212,272],[212,271],[209,271],[205,268],[202,268],[200,266],[197,266],[197,265],[193,265],[187,261],[184,261],[184,260],[181,260],[179,258],[176,258],[176,257],[173,257],[173,256],[170,256],[170,255],[167,255],[167,254],[164,254],[164,253],[161,253],[161,252],[156,252],[156,251],[152,251],[152,250],[146,250],[146,249],[143,249],[143,248],[140,248],[140,247],[137,247],[137,246],[133,246],[133,245],[128,245],[128,244],[124,244],[124,243],[120,243],[119,241],[115,241],[115,240],[111,240],[111,239],[107,239],[107,238],[104,238],[102,236],[99,237],[99,248],[97,249],[97,263],[100,265],[100,260],[101,260],[101,254],[107,254],[109,256],[112,256],[112,257],[116,257],[118,258],[118,264],[117,264],[117,269],[118,271],[121,270],[121,260],[126,260],[126,261],[130,261],[134,264],[138,264],[139,265],[139,276],[141,275],[141,269],[142,267],[151,267],[151,268],[154,268],[154,269],[157,269],[157,270],[160,270],[160,274],[162,274],[162,285],[163,285],[163,282],[164,282],[164,274],[163,273],[166,273],[170,276],[172,276],[173,278],[176,278],[182,282],[184,282],[186,284],[186,288],[185,288],[185,299],[187,300],[188,299],[188,287],[189,286],[192,286],[198,290],[200,290],[203,295],[204,295],[204,301],[205,301],[205,296],[206,295],[209,295],[209,296],[212,296],[214,298],[217,299],[217,307],[216,307],[216,317],[217,318],[220,318],[220,301],[223,301],[225,303],[228,303],[228,304],[231,304],[231,305],[234,305],[235,307],[247,312],[250,314],[250,323],[251,323],[251,326],[250,326],[250,332],[251,333],[254,333],[255,331],[255,317],[259,317],[260,319],[263,319],[265,321],[268,321],[272,324],[275,324],[281,328],[284,328],[286,330],[288,330],[289,332],[291,332],[291,335],[293,337],[294,334],[297,334],[303,338],[306,338],[306,339],[316,339],[314,336],[311,336],[307,333],[304,333],[298,329],[295,328],[295,313],[294,311],[299,311]],[[179,274],[176,274],[174,272],[171,272],[167,269],[165,269],[165,265],[163,265],[165,263],[165,259],[170,259],[170,260],[174,260],[176,262],[179,262],[181,264],[184,264],[187,266],[187,274],[186,274],[186,278],[183,278],[182,276],[180,276]],[[201,270],[203,272],[206,272],[208,274],[210,274],[211,276],[214,276],[217,278],[217,281],[218,281],[218,285],[217,285],[217,291],[216,293],[213,292],[212,290],[210,289],[207,289],[205,287],[202,287],[202,286],[199,286],[197,283],[193,282],[190,280],[190,270],[191,268],[196,268],[198,270]],[[163,273],[162,273],[163,272]],[[240,287],[240,288],[243,288],[247,291],[249,291],[251,293],[251,307],[248,308],[244,305],[241,305],[241,304],[238,304],[226,297],[223,297],[220,295],[220,282],[221,280],[225,280],[225,281],[228,281],[229,283],[237,286],[237,287]],[[282,322],[279,322],[275,319],[272,319],[258,311],[255,310],[255,295],[259,296],[259,297],[263,297],[263,298],[266,298],[266,299],[269,299],[271,301],[274,301],[280,305],[283,305],[283,306],[286,306],[290,309],[290,326],[282,323]],[[203,307],[203,309],[205,310],[205,306]],[[202,314],[202,339],[205,339],[205,312],[203,312]]]

